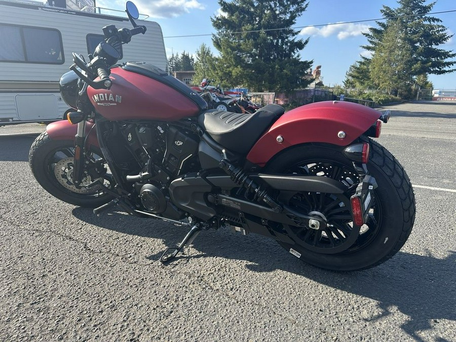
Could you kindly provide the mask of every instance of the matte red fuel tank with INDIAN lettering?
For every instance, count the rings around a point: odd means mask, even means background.
[[[110,121],[176,121],[207,109],[194,90],[148,63],[114,67],[109,78],[109,90],[89,87],[87,94],[95,110]]]

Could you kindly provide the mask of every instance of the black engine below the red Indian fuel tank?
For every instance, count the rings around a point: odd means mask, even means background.
[[[138,205],[154,214],[183,218],[184,212],[169,201],[168,187],[180,174],[199,170],[198,137],[169,124],[129,123],[121,132],[136,161],[130,164],[139,166],[130,174],[146,175],[134,183]]]

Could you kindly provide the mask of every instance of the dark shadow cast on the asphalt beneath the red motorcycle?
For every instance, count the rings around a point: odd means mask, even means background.
[[[141,219],[112,213],[97,217],[85,208],[75,208],[73,215],[83,221],[123,234],[161,239],[169,247],[187,233],[188,229],[171,223]],[[120,216],[126,217],[119,220]],[[193,243],[198,251],[180,255],[168,265],[180,267],[195,258],[221,257],[245,260],[252,272],[270,273],[282,270],[309,278],[318,283],[343,290],[378,302],[379,314],[365,318],[366,322],[381,321],[399,310],[408,319],[401,328],[415,341],[424,341],[420,331],[434,330],[441,320],[456,321],[456,251],[449,251],[445,258],[398,252],[392,259],[369,270],[360,272],[331,272],[297,260],[275,241],[250,234],[241,236],[230,231],[203,231]],[[160,258],[164,250],[147,257]],[[180,260],[180,262],[177,262]],[[451,323],[450,323],[451,324]],[[444,330],[444,329],[440,329]],[[450,332],[451,333],[451,332]],[[453,331],[454,334],[454,331]],[[442,336],[434,338],[449,342]]]

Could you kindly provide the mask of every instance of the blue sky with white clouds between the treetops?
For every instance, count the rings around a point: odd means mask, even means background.
[[[139,12],[148,14],[148,20],[157,21],[163,30],[168,57],[172,52],[183,51],[194,54],[202,43],[208,45],[214,54],[211,36],[177,37],[179,35],[211,34],[214,29],[211,17],[219,12],[216,0],[133,0]],[[430,2],[427,2],[430,3]],[[97,6],[125,8],[125,1],[108,2],[98,0]],[[306,12],[297,19],[295,26],[321,25],[328,23],[381,18],[382,5],[396,8],[395,0],[310,0]],[[456,10],[454,0],[437,0],[433,12]],[[450,34],[456,33],[456,12],[433,15],[442,20]],[[310,37],[309,44],[300,52],[301,58],[313,60],[314,67],[322,65],[322,77],[325,85],[342,84],[345,73],[366,51],[361,45],[366,44],[365,32],[374,21],[357,24],[339,24],[323,27],[308,27],[301,30],[303,39]],[[445,50],[456,51],[456,36],[442,45]],[[430,75],[434,88],[456,89],[456,72],[444,75]]]

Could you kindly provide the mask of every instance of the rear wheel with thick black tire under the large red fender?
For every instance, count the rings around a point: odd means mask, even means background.
[[[267,167],[269,173],[316,175],[343,183],[344,194],[281,193],[279,197],[294,210],[324,219],[324,229],[284,225],[294,244],[280,244],[301,260],[335,271],[374,267],[396,254],[410,235],[415,199],[403,167],[382,145],[369,142],[367,169],[378,187],[373,205],[359,234],[352,219],[350,197],[360,181],[342,148],[327,144],[302,145],[278,156]],[[356,238],[356,240],[354,240]],[[354,242],[353,242],[354,241]]]

